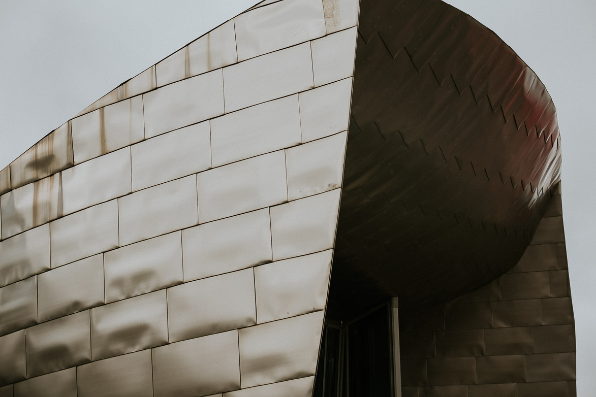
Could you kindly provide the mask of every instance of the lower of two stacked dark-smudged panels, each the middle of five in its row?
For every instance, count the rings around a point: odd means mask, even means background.
[[[93,360],[167,343],[166,290],[91,309]]]

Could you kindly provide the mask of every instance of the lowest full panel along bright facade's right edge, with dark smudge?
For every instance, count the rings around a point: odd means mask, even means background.
[[[242,387],[315,374],[324,311],[238,330]]]

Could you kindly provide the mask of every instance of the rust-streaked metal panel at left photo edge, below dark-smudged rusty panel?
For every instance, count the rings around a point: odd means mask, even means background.
[[[60,217],[61,204],[59,173],[5,193],[0,196],[2,238]]]

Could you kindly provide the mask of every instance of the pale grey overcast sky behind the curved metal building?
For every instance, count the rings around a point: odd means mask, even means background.
[[[0,169],[120,83],[255,0],[0,0]],[[449,0],[496,32],[550,92],[563,141],[563,211],[578,395],[596,390],[596,2]]]

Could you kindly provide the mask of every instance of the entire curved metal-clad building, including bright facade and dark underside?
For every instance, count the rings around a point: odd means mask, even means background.
[[[473,18],[263,1],[0,171],[0,397],[573,396],[559,181]]]

